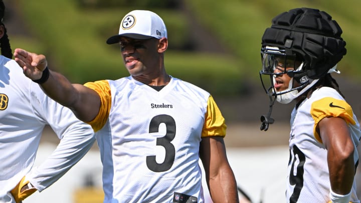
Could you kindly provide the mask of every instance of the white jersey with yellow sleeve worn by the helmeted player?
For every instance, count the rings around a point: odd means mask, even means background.
[[[330,181],[327,150],[316,132],[324,117],[341,117],[347,124],[353,141],[354,162],[358,162],[356,146],[361,138],[358,121],[342,96],[329,87],[315,90],[291,114],[290,160],[287,176],[287,202],[328,202]],[[352,202],[359,202],[353,181]]]

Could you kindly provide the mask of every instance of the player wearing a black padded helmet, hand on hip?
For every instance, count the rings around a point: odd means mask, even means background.
[[[341,33],[327,13],[298,8],[276,16],[262,37],[260,74],[269,76],[270,86],[262,84],[271,108],[275,100],[295,101],[287,202],[359,202],[354,174],[360,126],[331,76],[346,54]],[[262,118],[267,130],[270,114]]]

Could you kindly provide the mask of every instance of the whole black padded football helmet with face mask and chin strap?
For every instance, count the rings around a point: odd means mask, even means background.
[[[262,36],[260,78],[270,97],[270,111],[268,116],[261,117],[261,130],[267,130],[273,122],[270,114],[275,100],[289,103],[327,73],[337,72],[336,65],[346,54],[346,42],[341,34],[337,22],[317,9],[292,9],[273,18],[272,26]],[[294,69],[275,73],[280,59],[283,64],[293,64]],[[287,74],[298,85],[290,83],[287,90],[276,92],[273,84],[277,74]],[[270,76],[270,87],[266,88],[262,75]]]

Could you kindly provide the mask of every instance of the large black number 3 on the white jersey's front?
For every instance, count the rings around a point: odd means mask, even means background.
[[[164,161],[162,163],[157,163],[155,155],[146,157],[146,164],[148,168],[154,172],[163,172],[169,170],[173,165],[175,157],[174,145],[170,143],[175,137],[175,121],[171,116],[165,114],[154,116],[150,120],[149,133],[158,132],[159,125],[161,123],[165,124],[166,133],[165,136],[156,138],[156,145],[164,147]]]

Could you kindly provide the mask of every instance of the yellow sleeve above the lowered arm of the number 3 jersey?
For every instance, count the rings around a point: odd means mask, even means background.
[[[227,125],[212,95],[207,101],[205,124],[203,125],[202,137],[226,136]]]

